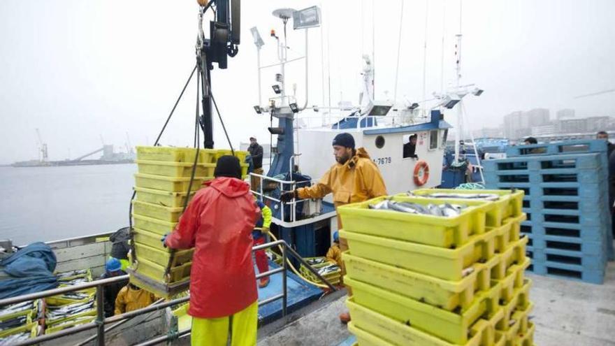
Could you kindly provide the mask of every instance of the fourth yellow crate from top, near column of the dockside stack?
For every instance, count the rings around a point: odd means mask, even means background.
[[[464,312],[456,313],[352,280],[349,277],[345,277],[344,282],[352,287],[352,299],[355,303],[395,319],[400,322],[399,324],[410,324],[416,329],[449,343],[459,345],[468,343],[468,331],[478,319],[482,316],[501,315],[501,308],[498,305],[501,290],[499,285],[495,285],[489,291],[481,292],[469,308]],[[350,315],[354,320],[352,310]]]

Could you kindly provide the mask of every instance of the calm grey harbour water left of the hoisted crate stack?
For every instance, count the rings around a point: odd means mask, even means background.
[[[129,224],[135,164],[0,167],[0,238],[15,245]]]

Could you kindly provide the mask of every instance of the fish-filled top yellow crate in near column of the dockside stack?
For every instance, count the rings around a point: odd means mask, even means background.
[[[393,196],[378,197],[361,203],[340,206],[338,212],[344,230],[353,233],[381,236],[412,243],[437,247],[460,247],[468,242],[470,236],[482,234],[488,227],[500,226],[495,216],[493,202],[463,201],[468,206],[456,217],[419,215],[395,210],[370,209],[370,204],[384,200],[410,202],[426,206],[444,203],[459,203],[458,200],[425,199],[420,197]]]

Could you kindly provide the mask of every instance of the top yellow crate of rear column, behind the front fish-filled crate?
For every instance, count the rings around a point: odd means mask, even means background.
[[[430,198],[431,194],[495,194],[500,196],[495,204],[495,219],[506,219],[508,217],[518,217],[523,213],[523,190],[456,190],[456,189],[418,189],[411,192],[413,196]],[[407,194],[404,194],[407,196]],[[449,199],[451,201],[477,201],[477,199]]]

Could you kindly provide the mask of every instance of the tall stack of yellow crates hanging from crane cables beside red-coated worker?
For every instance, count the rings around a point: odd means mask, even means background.
[[[214,178],[216,161],[225,154],[231,154],[231,150],[198,150],[188,194],[195,148],[137,147],[131,282],[165,298],[187,289],[194,249],[174,251],[160,240],[175,229],[186,199],[191,199],[203,182]],[[235,154],[243,162],[247,152]],[[246,175],[247,164],[242,168]]]

